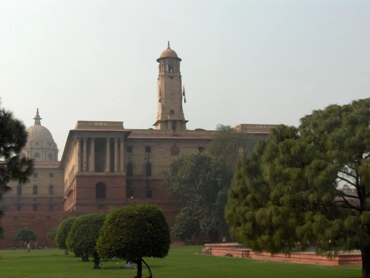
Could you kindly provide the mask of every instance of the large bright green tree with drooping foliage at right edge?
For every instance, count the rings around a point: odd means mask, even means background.
[[[231,235],[256,250],[359,249],[370,277],[370,99],[279,126],[238,162],[226,206]],[[355,194],[340,187],[345,184]]]

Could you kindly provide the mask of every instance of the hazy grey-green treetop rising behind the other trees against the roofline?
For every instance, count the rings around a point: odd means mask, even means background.
[[[253,150],[258,139],[253,134],[246,133],[244,128],[218,124],[216,130],[207,150],[215,157],[222,157],[233,173],[236,162]]]

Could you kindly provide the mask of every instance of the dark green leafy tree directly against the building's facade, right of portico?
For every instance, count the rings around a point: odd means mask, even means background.
[[[179,236],[213,232],[224,227],[224,207],[231,172],[222,158],[206,152],[181,155],[163,171],[163,185],[181,208],[173,230]],[[182,232],[181,232],[182,231]]]

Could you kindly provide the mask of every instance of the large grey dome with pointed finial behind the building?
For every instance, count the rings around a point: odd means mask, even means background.
[[[57,144],[50,131],[41,125],[39,109],[34,120],[34,125],[27,129],[27,145],[23,148],[21,156],[33,158],[35,161],[58,161]]]

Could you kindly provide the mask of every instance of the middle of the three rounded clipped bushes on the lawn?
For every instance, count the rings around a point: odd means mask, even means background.
[[[88,213],[79,216],[74,221],[66,241],[68,250],[86,254],[86,258],[91,255],[94,258],[94,269],[100,268],[100,257],[95,246],[104,221],[104,213]]]

